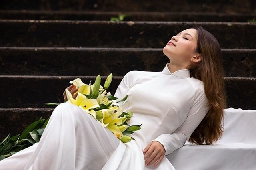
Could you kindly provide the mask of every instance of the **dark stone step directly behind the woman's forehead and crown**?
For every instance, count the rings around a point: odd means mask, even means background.
[[[256,23],[69,20],[0,20],[0,46],[163,48],[195,25],[211,32],[222,49],[256,48]]]

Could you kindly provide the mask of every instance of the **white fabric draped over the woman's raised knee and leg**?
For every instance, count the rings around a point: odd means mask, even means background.
[[[78,106],[61,103],[40,142],[0,161],[0,170],[99,170],[120,142]]]

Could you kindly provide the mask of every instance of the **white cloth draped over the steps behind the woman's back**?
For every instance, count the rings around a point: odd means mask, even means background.
[[[256,110],[224,109],[224,133],[213,145],[185,145],[166,157],[176,170],[256,170]]]

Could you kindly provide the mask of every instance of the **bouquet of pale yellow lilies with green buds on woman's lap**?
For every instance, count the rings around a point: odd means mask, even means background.
[[[123,143],[130,142],[135,140],[130,134],[140,130],[141,124],[130,126],[127,123],[132,117],[132,111],[124,112],[121,106],[127,102],[128,95],[120,101],[116,101],[118,97],[114,97],[110,92],[106,92],[111,81],[112,73],[108,75],[104,88],[100,85],[100,75],[96,77],[93,85],[91,85],[91,82],[89,85],[83,83],[80,78],[74,79],[69,83],[74,84],[78,88],[78,91],[76,91],[78,94],[74,99],[70,91],[66,89],[67,101],[64,102],[69,102],[82,108],[86,113],[92,115],[94,119],[100,121],[102,127],[111,130]],[[122,102],[124,103],[119,105]],[[59,105],[59,103],[46,103],[46,105]]]

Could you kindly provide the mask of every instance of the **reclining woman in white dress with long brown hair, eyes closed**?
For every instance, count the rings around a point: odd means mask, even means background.
[[[133,111],[130,125],[142,123],[131,135],[136,141],[122,143],[79,107],[61,103],[40,142],[0,161],[0,169],[174,170],[166,155],[186,140],[213,144],[226,108],[218,41],[197,26],[173,36],[163,52],[170,62],[162,71],[129,71],[114,95],[128,95],[122,109]],[[78,89],[67,89],[75,98]]]

